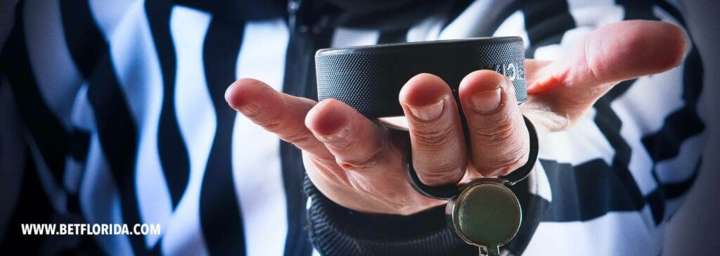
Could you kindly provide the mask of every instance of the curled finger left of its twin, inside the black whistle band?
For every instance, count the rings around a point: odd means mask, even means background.
[[[467,166],[465,139],[450,87],[438,76],[419,74],[400,90],[408,119],[413,167],[427,185],[459,182]]]

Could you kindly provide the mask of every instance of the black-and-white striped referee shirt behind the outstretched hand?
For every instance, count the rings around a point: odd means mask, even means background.
[[[235,79],[314,99],[320,48],[519,35],[528,58],[554,60],[611,22],[685,27],[672,0],[412,6],[351,12],[297,0],[19,1],[0,25],[9,30],[0,59],[0,251],[347,252],[318,235],[318,219],[307,221],[308,208],[312,217],[324,206],[303,194],[300,151],[225,103]],[[503,253],[660,254],[706,139],[702,74],[691,44],[683,65],[618,84],[573,128],[544,138],[539,164],[516,185],[523,226]],[[162,234],[19,231],[48,222],[161,224]],[[357,252],[374,246],[344,239]]]

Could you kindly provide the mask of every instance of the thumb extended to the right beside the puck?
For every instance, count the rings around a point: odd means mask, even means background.
[[[528,87],[528,93],[557,87],[584,87],[593,93],[573,92],[591,104],[593,98],[609,89],[598,89],[599,85],[672,69],[682,63],[687,49],[685,33],[670,23],[642,20],[613,23],[580,40]]]

